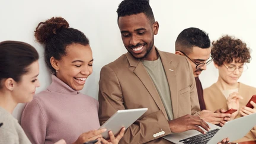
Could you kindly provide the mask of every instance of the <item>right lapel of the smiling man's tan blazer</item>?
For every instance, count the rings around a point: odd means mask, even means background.
[[[178,89],[177,89],[177,79],[175,65],[172,63],[170,57],[167,57],[165,53],[156,49],[161,57],[162,65],[164,66],[165,75],[167,76],[167,81],[169,84],[169,90],[171,94],[172,103],[172,113],[174,114],[174,119],[178,117]]]

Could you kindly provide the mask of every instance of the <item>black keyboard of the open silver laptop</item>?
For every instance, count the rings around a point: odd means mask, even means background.
[[[186,144],[204,144],[209,142],[210,139],[217,133],[219,129],[210,130],[206,134],[199,134],[196,136],[188,137],[187,139],[180,140],[179,142],[186,143]]]

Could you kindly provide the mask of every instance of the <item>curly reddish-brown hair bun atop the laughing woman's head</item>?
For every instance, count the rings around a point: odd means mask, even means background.
[[[62,17],[52,17],[37,25],[36,31],[34,31],[34,36],[39,43],[44,44],[63,28],[69,28],[69,23]]]

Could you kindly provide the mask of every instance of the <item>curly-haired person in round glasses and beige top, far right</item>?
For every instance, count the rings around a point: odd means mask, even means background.
[[[251,60],[247,44],[234,37],[223,36],[212,42],[211,54],[215,67],[219,69],[219,78],[215,84],[204,89],[206,109],[216,111],[223,108],[221,112],[236,109],[231,120],[256,113],[256,104],[253,101],[251,104],[254,108],[245,106],[252,95],[256,94],[256,88],[238,82],[242,73],[248,69],[246,63]],[[256,140],[256,126],[236,142],[249,140]]]

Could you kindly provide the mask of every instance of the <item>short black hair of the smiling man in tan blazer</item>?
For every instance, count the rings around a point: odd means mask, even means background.
[[[155,17],[149,5],[149,0],[124,0],[119,4],[119,8],[117,9],[117,23],[119,17],[140,13],[145,14],[152,24],[155,22]]]

